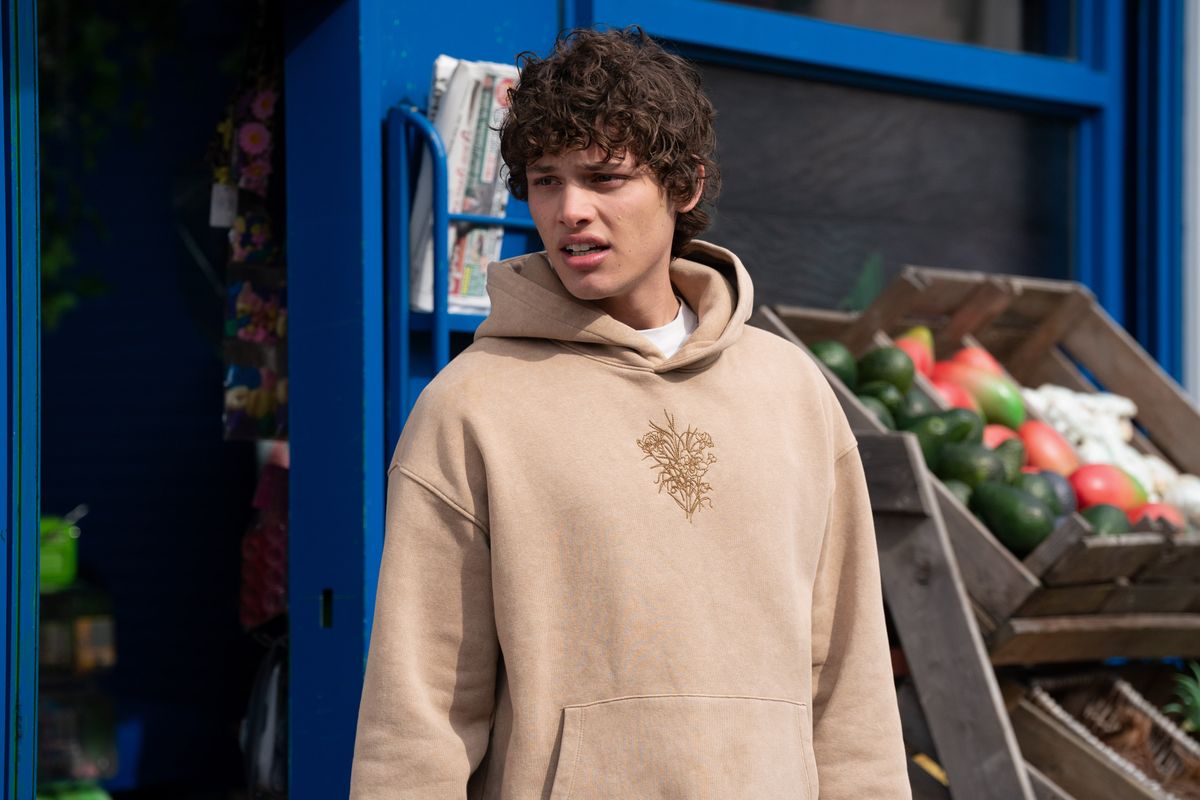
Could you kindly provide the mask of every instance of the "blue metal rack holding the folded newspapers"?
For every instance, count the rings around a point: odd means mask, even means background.
[[[414,156],[421,146],[433,160],[433,311],[421,312],[410,302],[410,219]],[[388,441],[395,444],[421,389],[451,356],[451,333],[473,333],[484,314],[449,309],[450,266],[446,245],[451,224],[502,225],[536,235],[533,219],[518,216],[488,217],[449,210],[446,149],[433,124],[414,106],[388,112]],[[414,332],[428,332],[430,342],[418,344]]]

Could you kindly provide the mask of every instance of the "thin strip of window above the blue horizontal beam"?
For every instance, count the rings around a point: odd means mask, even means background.
[[[1075,58],[1076,0],[727,0],[890,34]]]

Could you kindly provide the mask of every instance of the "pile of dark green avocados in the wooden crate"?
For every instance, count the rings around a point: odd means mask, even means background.
[[[884,427],[916,435],[930,471],[1018,558],[1033,552],[1075,511],[1067,480],[1022,469],[1025,445],[1019,438],[988,447],[983,417],[961,408],[938,410],[913,386],[913,362],[904,350],[876,348],[857,361],[839,342],[816,342],[810,350]]]

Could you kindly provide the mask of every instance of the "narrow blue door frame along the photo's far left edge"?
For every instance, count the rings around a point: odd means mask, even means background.
[[[37,775],[37,486],[38,242],[37,14],[34,0],[0,0],[4,41],[4,187],[0,245],[5,254],[5,320],[0,353],[7,383],[7,488],[0,515],[5,566],[4,789],[32,798]]]

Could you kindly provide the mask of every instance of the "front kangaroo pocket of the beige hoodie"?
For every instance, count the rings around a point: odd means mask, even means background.
[[[551,800],[816,796],[808,706],[703,694],[624,697],[563,710]]]

